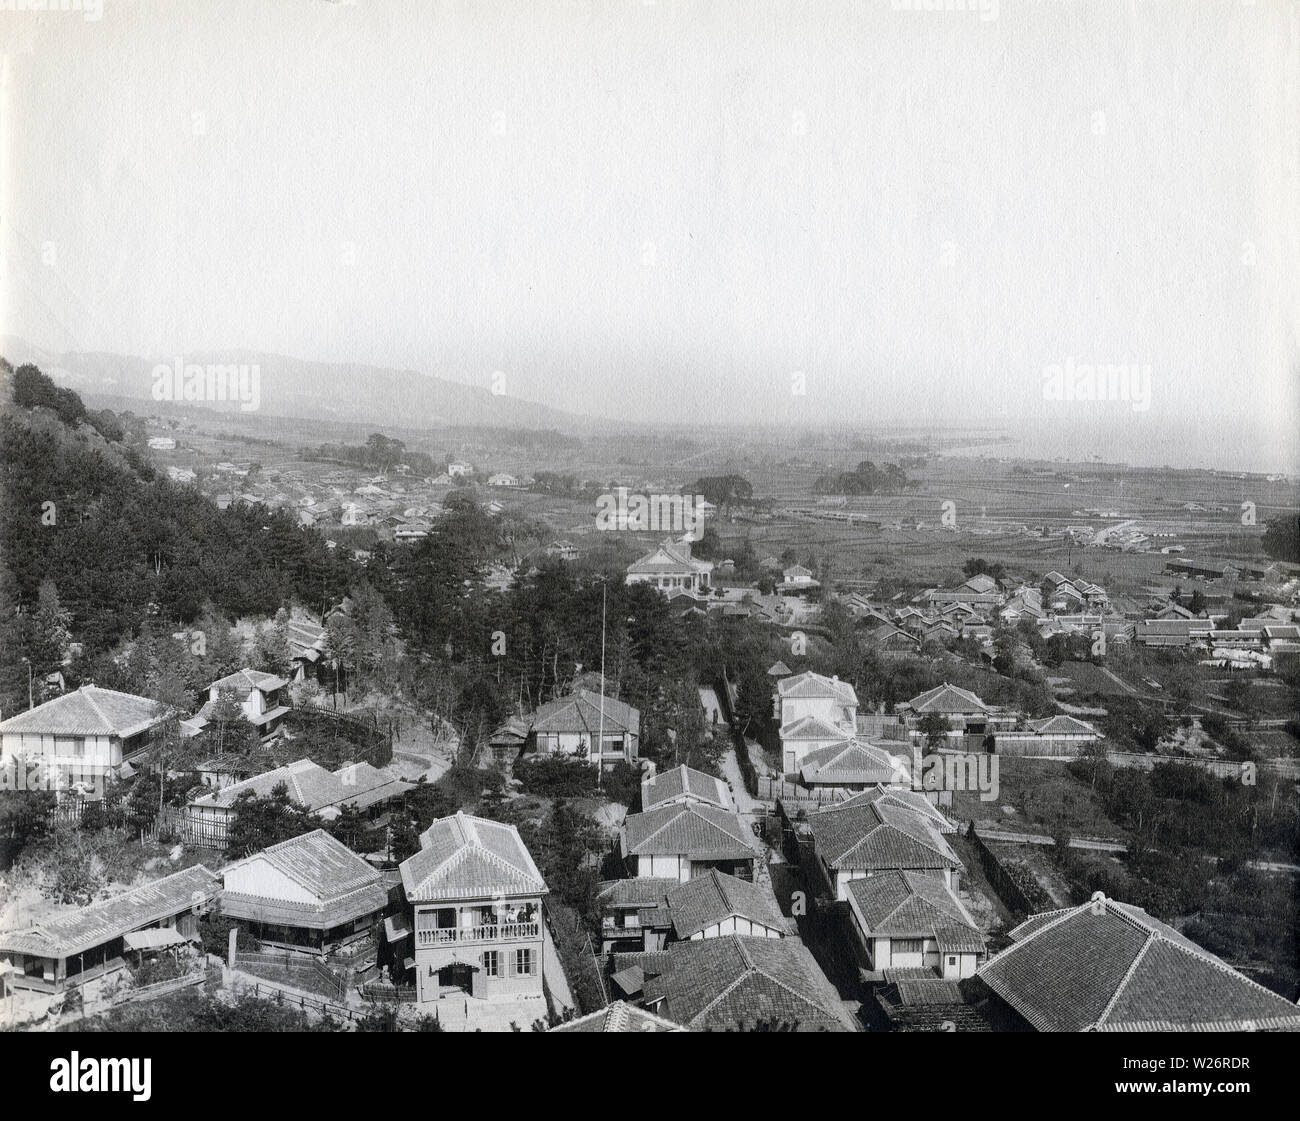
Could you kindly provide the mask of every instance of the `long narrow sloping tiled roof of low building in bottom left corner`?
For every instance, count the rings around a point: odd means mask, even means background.
[[[82,953],[127,931],[188,910],[198,903],[211,901],[220,890],[217,877],[203,865],[195,865],[81,910],[43,919],[26,930],[0,934],[0,951],[39,957]]]

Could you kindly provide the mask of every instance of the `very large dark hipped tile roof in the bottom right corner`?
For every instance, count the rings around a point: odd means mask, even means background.
[[[979,977],[1039,1031],[1300,1030],[1300,1008],[1141,908],[1036,914]]]

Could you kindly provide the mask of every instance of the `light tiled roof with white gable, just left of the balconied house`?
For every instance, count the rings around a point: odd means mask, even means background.
[[[240,871],[261,862],[292,880],[311,901],[296,892],[280,897],[239,891]],[[222,869],[221,875],[226,883],[222,913],[233,918],[329,929],[382,910],[389,900],[384,874],[324,830],[252,853]]]

